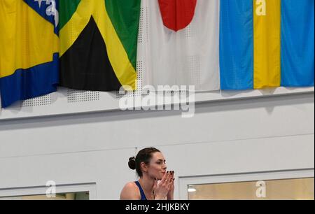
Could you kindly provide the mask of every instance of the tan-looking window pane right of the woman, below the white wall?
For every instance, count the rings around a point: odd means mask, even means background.
[[[314,200],[314,178],[188,185],[190,200]]]

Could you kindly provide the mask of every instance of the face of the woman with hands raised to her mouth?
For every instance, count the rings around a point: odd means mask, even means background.
[[[155,152],[152,155],[151,162],[147,166],[148,176],[151,178],[157,178],[162,180],[163,176],[166,173],[167,165],[164,156],[161,152]]]

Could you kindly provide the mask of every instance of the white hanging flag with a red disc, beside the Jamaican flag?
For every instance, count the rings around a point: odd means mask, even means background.
[[[220,89],[219,0],[143,1],[148,8],[146,84]]]

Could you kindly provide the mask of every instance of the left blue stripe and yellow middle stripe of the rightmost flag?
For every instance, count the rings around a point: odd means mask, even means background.
[[[223,90],[279,87],[281,0],[221,1]]]

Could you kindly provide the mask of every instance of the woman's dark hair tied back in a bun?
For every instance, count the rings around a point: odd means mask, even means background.
[[[138,152],[136,157],[130,157],[128,166],[132,170],[136,170],[139,177],[143,176],[141,171],[141,163],[149,164],[151,158],[155,152],[160,152],[160,150],[156,148],[145,148]]]

